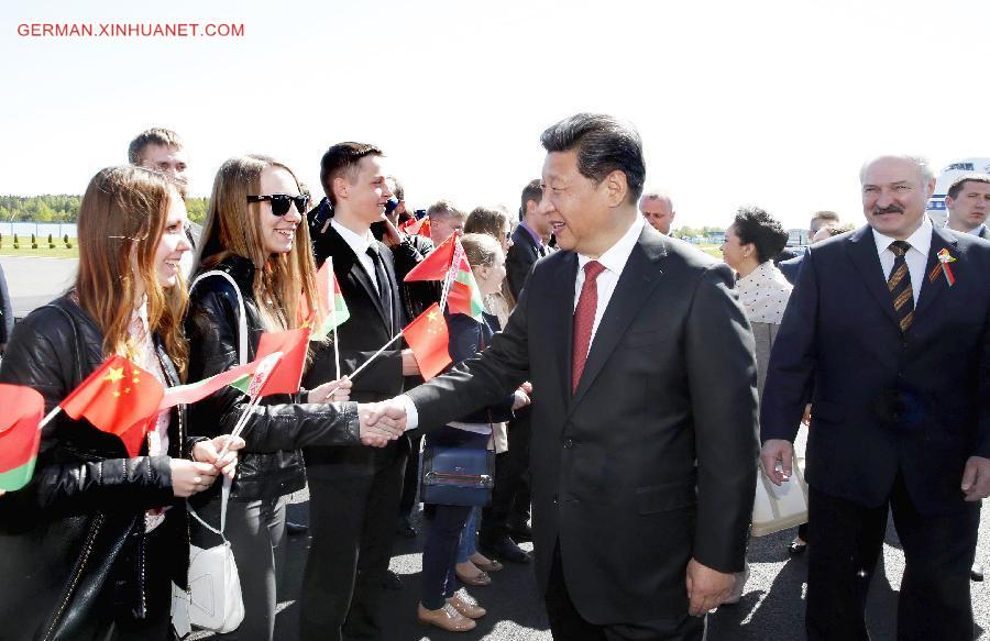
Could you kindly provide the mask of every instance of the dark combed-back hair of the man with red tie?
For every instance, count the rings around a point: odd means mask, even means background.
[[[642,140],[631,124],[602,113],[578,113],[551,125],[540,135],[548,152],[578,150],[578,170],[601,183],[612,172],[626,175],[628,201],[639,200],[646,183]]]

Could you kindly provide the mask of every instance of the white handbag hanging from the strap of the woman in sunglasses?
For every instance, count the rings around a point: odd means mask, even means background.
[[[238,564],[223,535],[227,524],[227,501],[230,497],[230,479],[223,479],[220,499],[220,529],[204,521],[193,508],[199,523],[219,534],[222,542],[212,548],[189,546],[189,589],[172,584],[172,618],[179,637],[197,626],[215,632],[231,632],[244,620],[244,601],[241,598],[241,579]],[[183,611],[185,610],[185,611]]]

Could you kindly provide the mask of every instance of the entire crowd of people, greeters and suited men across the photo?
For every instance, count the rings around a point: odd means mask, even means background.
[[[393,539],[417,535],[425,499],[410,618],[471,630],[486,611],[459,588],[520,563],[554,639],[700,640],[745,590],[757,474],[790,482],[804,424],[810,519],[790,551],[809,555],[809,639],[869,638],[889,510],[899,639],[971,639],[990,176],[956,180],[938,228],[927,164],[872,158],[864,226],[816,212],[795,254],[779,220],[740,208],[719,263],[670,236],[630,124],[581,113],[541,142],[518,217],[440,200],[418,218],[385,153],[354,142],[320,159],[319,202],[272,157],[227,161],[199,233],[174,132],[97,173],[74,286],[0,336],[0,383],[46,410],[113,355],[165,387],[254,361],[263,334],[308,327],[324,264],[349,318],[309,343],[297,393],[163,410],[138,456],[85,418],[48,423],[29,485],[0,495],[0,638],[173,639],[173,584],[188,587],[190,545],[216,544],[199,523],[226,522],[244,617],[217,638],[274,638],[285,537],[307,532],[300,639],[381,639],[383,593],[403,587]],[[424,383],[396,336],[451,283],[406,277],[452,235],[482,305],[441,310],[451,365]],[[440,451],[494,461],[483,500],[418,493]],[[307,484],[309,524],[288,523]]]

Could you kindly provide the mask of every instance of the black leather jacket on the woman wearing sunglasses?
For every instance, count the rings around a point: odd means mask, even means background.
[[[264,332],[252,287],[254,265],[233,255],[216,269],[230,274],[243,297],[250,333],[248,361],[253,361]],[[186,318],[189,380],[200,380],[240,363],[239,313],[237,292],[226,278],[210,276],[193,289]],[[358,404],[299,404],[299,397],[273,395],[254,408],[242,432],[248,445],[240,452],[232,498],[273,498],[301,489],[306,472],[299,447],[361,444]],[[193,406],[189,431],[206,436],[230,433],[246,406],[243,394],[231,387],[222,389]]]

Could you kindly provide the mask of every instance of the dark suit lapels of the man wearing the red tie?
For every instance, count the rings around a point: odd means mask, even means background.
[[[667,255],[667,248],[663,243],[663,237],[652,228],[644,228],[642,233],[639,235],[639,241],[632,247],[632,253],[629,254],[626,266],[623,267],[623,273],[608,301],[608,307],[605,308],[605,313],[602,314],[602,321],[598,323],[598,329],[595,331],[592,340],[591,350],[587,353],[587,361],[584,363],[581,383],[578,385],[578,390],[574,393],[573,398],[571,398],[568,416],[581,402],[581,399],[594,383],[595,377],[615,351],[615,346],[625,334],[626,328],[636,318],[636,313],[660,281],[660,276],[663,272],[654,263]],[[573,283],[573,279],[571,281]],[[571,325],[571,333],[573,333],[573,322]],[[566,351],[569,365],[566,380],[569,384],[571,379],[570,357],[572,351],[573,339],[568,341]]]

